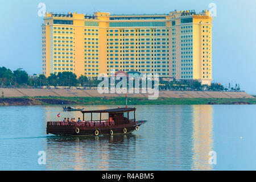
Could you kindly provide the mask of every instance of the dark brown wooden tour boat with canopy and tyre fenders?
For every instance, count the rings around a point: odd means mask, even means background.
[[[139,126],[147,121],[135,120],[135,107],[122,107],[105,110],[85,110],[81,111],[82,121],[47,122],[46,133],[54,135],[114,135],[128,134],[134,130],[139,130]],[[85,120],[85,114],[90,113],[90,120]],[[93,113],[100,114],[100,120],[93,120]],[[108,119],[102,119],[102,113],[108,114]]]

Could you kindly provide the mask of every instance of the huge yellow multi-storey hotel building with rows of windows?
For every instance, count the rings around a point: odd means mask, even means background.
[[[47,13],[42,73],[79,77],[137,71],[177,80],[212,80],[212,16],[208,10],[169,14]]]

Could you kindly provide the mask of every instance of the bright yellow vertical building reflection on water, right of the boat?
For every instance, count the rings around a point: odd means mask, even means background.
[[[209,152],[213,148],[212,105],[193,105],[193,170],[212,170]]]

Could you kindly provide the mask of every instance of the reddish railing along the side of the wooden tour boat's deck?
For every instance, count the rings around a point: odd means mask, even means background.
[[[48,121],[47,126],[83,126],[83,127],[114,126],[114,121],[108,121],[108,120],[101,120],[101,122],[100,121],[76,121],[76,122]]]

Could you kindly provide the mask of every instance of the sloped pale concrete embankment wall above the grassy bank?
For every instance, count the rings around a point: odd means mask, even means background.
[[[0,97],[125,97],[125,94],[100,94],[97,90],[82,89],[23,89],[0,88]],[[127,97],[148,97],[148,94],[133,93]],[[159,98],[254,98],[246,92],[212,91],[159,91]]]

